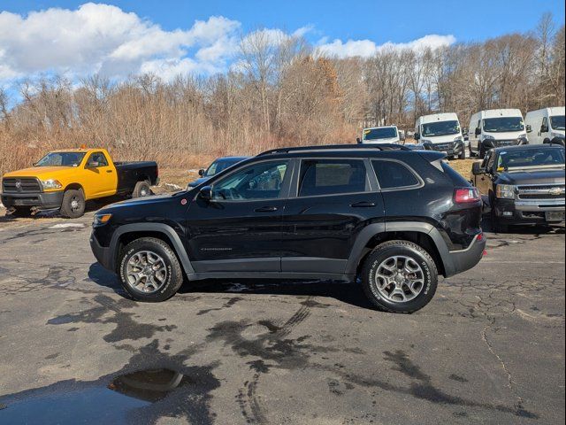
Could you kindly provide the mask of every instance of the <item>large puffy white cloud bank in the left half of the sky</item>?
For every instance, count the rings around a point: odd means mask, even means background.
[[[213,16],[187,30],[165,31],[135,13],[93,3],[26,17],[1,12],[0,81],[43,72],[121,78],[168,64],[192,72],[222,70],[236,51],[240,26]],[[187,58],[188,50],[196,50],[195,58]]]

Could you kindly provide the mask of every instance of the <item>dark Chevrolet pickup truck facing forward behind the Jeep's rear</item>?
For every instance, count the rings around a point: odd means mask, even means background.
[[[471,182],[491,211],[493,228],[564,221],[564,148],[496,148],[473,164]]]

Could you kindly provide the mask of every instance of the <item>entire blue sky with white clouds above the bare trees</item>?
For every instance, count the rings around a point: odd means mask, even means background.
[[[563,0],[0,0],[0,88],[52,73],[222,73],[254,31],[270,42],[302,35],[339,58],[434,49],[529,31],[544,12],[563,24]]]

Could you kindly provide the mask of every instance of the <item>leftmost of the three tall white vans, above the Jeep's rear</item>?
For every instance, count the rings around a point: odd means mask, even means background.
[[[460,120],[454,112],[432,113],[418,117],[415,140],[426,149],[446,152],[448,158],[466,158]]]

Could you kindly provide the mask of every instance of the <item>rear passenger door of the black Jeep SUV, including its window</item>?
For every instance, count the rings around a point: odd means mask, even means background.
[[[383,201],[363,158],[296,160],[283,214],[281,271],[342,274],[356,236],[383,221]]]

